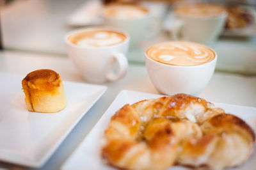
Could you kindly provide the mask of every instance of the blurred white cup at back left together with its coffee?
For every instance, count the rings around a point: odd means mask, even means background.
[[[149,38],[152,30],[152,16],[147,8],[138,5],[110,5],[103,12],[104,24],[126,31],[131,36],[131,47],[138,47],[143,38]],[[156,28],[154,28],[156,29]]]

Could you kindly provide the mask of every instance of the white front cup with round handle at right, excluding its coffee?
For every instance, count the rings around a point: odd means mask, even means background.
[[[84,31],[115,31],[126,36],[124,42],[116,45],[104,47],[81,47],[68,40],[71,35],[83,33]],[[72,59],[77,69],[88,82],[103,83],[107,81],[116,81],[127,72],[128,61],[125,57],[129,49],[129,35],[118,29],[110,27],[91,27],[86,29],[77,29],[67,33],[65,43],[67,45],[68,56]],[[118,65],[118,71],[116,71]],[[117,72],[117,73],[116,73]]]

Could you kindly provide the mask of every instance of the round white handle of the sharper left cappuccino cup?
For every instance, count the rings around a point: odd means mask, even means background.
[[[116,62],[118,63],[118,73],[115,73],[115,69],[114,69]],[[127,72],[127,68],[128,68],[127,58],[124,56],[124,54],[120,52],[115,52],[114,54],[111,55],[106,79],[108,81],[116,81],[121,77],[124,77],[124,75]]]

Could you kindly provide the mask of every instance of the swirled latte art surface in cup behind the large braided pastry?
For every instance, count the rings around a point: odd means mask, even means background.
[[[147,56],[159,63],[195,66],[212,61],[216,54],[205,45],[191,42],[158,43],[147,50]]]

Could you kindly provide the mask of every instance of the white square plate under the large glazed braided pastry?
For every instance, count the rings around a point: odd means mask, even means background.
[[[87,135],[82,143],[79,144],[74,153],[72,153],[72,155],[70,155],[66,160],[61,169],[115,169],[114,167],[108,166],[108,164],[102,160],[100,155],[102,135],[104,130],[108,127],[111,116],[113,116],[113,114],[115,114],[115,112],[125,104],[133,104],[140,100],[158,97],[161,97],[161,95],[128,90],[121,91],[109,106],[108,110],[103,114],[102,118],[100,118],[95,127],[93,127],[92,131]],[[256,108],[229,104],[214,104],[216,107],[225,109],[226,112],[230,112],[240,118],[243,118],[243,120],[246,120],[251,126],[253,126],[254,130],[256,129]],[[243,164],[243,166],[239,166],[236,169],[253,169],[253,167],[256,167],[255,154],[250,157],[246,164]],[[170,169],[186,168],[175,166]]]

